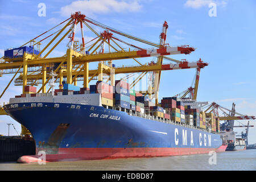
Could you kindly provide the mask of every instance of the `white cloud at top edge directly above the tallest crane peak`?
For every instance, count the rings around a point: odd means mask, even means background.
[[[60,13],[63,16],[70,16],[76,11],[81,11],[85,15],[106,14],[110,12],[135,12],[141,10],[142,5],[136,0],[117,1],[117,0],[88,0],[74,1],[70,5],[61,7]]]

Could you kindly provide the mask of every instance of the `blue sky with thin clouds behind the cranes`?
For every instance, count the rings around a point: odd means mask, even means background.
[[[42,11],[44,5],[45,14]],[[200,73],[197,101],[217,102],[229,109],[234,102],[238,113],[256,115],[255,8],[254,0],[0,0],[0,56],[3,56],[5,49],[22,46],[28,40],[68,19],[75,11],[81,11],[97,22],[154,43],[159,43],[162,24],[166,20],[166,43],[174,47],[189,45],[196,48],[189,55],[168,57],[192,62],[201,58],[209,63]],[[102,31],[101,28],[92,27],[97,32]],[[81,40],[79,31],[77,28],[76,38]],[[86,28],[84,34],[85,42],[95,38]],[[121,38],[118,35],[117,37]],[[152,47],[126,38],[123,40],[142,48]],[[65,38],[49,57],[63,56],[67,43],[68,38]],[[43,41],[42,47],[46,44],[47,41]],[[123,44],[122,46],[127,48]],[[153,57],[139,60],[143,64],[156,61]],[[134,60],[113,62],[117,66],[137,65]],[[170,62],[165,60],[164,63]],[[90,69],[97,68],[94,63],[89,66]],[[195,72],[195,69],[162,72],[159,97],[174,96],[187,89],[192,84]],[[13,75],[0,77],[0,92],[12,77]],[[22,88],[12,83],[0,99],[1,105],[21,92]],[[7,123],[13,123],[20,133],[19,123],[10,117],[0,116],[0,134],[7,135]],[[241,123],[246,124],[247,121],[235,122],[235,125]],[[250,121],[250,124],[255,125],[255,121]],[[245,128],[234,130],[240,134]],[[16,135],[13,127],[10,127],[10,135]],[[256,143],[256,125],[249,129],[249,143]]]

